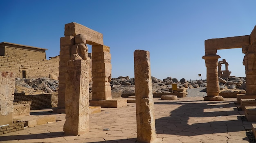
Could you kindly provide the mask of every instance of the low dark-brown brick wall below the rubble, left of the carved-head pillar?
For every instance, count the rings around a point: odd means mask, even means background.
[[[23,93],[15,93],[13,104],[29,104],[30,110],[57,107],[58,93],[24,95]]]

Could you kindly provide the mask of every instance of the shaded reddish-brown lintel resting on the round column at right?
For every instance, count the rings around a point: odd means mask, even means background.
[[[218,39],[208,39],[204,41],[205,50],[211,49],[231,49],[231,48],[242,48],[243,45],[249,45],[249,35],[227,37]]]

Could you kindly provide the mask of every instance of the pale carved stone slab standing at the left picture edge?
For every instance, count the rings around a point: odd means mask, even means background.
[[[13,123],[14,77],[13,72],[0,72],[0,126]]]

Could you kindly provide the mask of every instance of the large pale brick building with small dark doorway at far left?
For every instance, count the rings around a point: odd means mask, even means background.
[[[16,77],[41,78],[58,76],[59,56],[46,60],[45,50],[26,45],[0,43],[0,72],[11,71]],[[22,76],[23,74],[25,75]]]

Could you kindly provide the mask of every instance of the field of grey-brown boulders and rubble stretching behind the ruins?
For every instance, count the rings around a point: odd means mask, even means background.
[[[153,93],[171,93],[172,84],[177,84],[177,92],[186,92],[187,89],[206,87],[206,80],[187,81],[182,78],[167,77],[163,80],[152,78]],[[246,80],[245,78],[219,78],[220,92],[227,93],[245,93]],[[135,93],[135,80],[128,76],[119,76],[112,78],[110,82],[112,92],[116,93]],[[89,85],[89,92],[92,90],[92,82]],[[15,93],[25,93],[26,95],[44,94],[58,92],[58,80],[51,78],[16,78]]]

